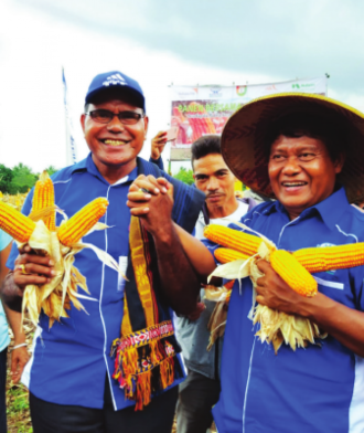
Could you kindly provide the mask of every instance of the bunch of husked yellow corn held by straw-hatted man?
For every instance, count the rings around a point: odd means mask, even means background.
[[[261,276],[256,266],[260,258],[270,262],[271,267],[293,291],[308,297],[315,296],[318,293],[318,283],[311,273],[364,265],[364,243],[309,247],[290,253],[278,250],[264,236],[251,235],[222,225],[207,225],[204,235],[224,246],[215,250],[214,254],[218,262],[228,266],[225,270],[224,265],[218,266],[212,275],[239,278],[244,267],[243,277],[250,276],[254,287],[256,279]],[[307,347],[308,342],[317,344],[315,339],[326,336],[309,319],[272,310],[260,304],[256,306],[255,298],[253,311],[253,323],[260,325],[257,336],[261,341],[271,342],[276,353],[282,342],[296,350],[297,347]]]

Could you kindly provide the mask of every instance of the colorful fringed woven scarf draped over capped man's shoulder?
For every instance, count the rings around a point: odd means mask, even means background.
[[[203,201],[204,196],[197,190],[174,184],[173,210],[179,209],[176,220],[180,219],[181,225],[189,231],[194,226],[191,218],[196,221]],[[190,214],[184,221],[186,212]],[[136,400],[136,410],[142,410],[150,402],[152,392],[164,390],[174,379],[183,377],[183,372],[180,362],[174,360],[181,348],[174,337],[168,302],[160,288],[153,239],[136,216],[131,216],[129,244],[121,337],[114,341],[111,350],[115,355],[113,378],[118,380],[127,399]]]

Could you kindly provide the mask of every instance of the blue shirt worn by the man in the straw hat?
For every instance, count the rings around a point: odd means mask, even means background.
[[[293,221],[272,202],[242,222],[288,251],[364,242],[364,214],[349,204],[344,189]],[[364,310],[364,266],[314,277],[321,293]],[[235,284],[228,308],[222,392],[213,410],[218,432],[364,432],[364,360],[331,336],[296,352],[283,344],[275,355],[271,345],[255,337],[250,307],[251,282],[245,278],[240,294]]]

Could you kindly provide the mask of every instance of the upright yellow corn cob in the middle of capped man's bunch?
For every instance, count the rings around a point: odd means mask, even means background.
[[[49,173],[43,171],[39,181],[35,183],[32,212],[51,207],[54,207],[54,187]],[[51,232],[55,231],[54,209],[50,210],[50,216],[44,219],[44,223]]]

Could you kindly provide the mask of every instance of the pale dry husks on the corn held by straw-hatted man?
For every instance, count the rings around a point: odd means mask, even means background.
[[[256,282],[259,277],[264,276],[257,267],[257,262],[261,258],[270,262],[270,254],[277,250],[277,247],[267,237],[253,231],[245,224],[238,222],[234,222],[234,224],[249,232],[254,232],[261,237],[263,242],[258,253],[246,261],[237,260],[226,263],[225,265],[217,266],[210,275],[208,281],[213,276],[217,276],[227,279],[238,278],[240,284],[242,278],[247,276],[250,277],[253,282],[253,305],[248,318],[250,318],[254,324],[260,325],[260,329],[256,335],[259,337],[261,342],[266,341],[267,344],[272,344],[276,355],[278,353],[282,342],[289,345],[292,350],[296,350],[298,347],[307,347],[309,342],[317,344],[315,338],[325,338],[326,334],[321,332],[319,327],[307,318],[277,311],[260,304],[256,306]],[[212,300],[213,297],[221,297],[220,300],[222,300],[223,297],[226,296],[223,289],[216,294],[216,291],[207,288],[205,289],[205,293],[206,298]]]

